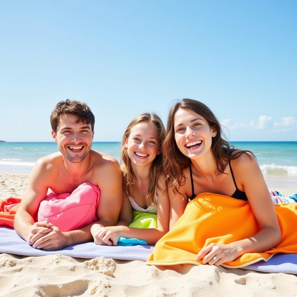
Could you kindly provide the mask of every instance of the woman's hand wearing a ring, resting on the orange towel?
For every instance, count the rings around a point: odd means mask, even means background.
[[[202,260],[202,264],[219,266],[225,262],[233,261],[240,256],[239,248],[233,242],[232,244],[211,243],[201,249],[196,260]]]

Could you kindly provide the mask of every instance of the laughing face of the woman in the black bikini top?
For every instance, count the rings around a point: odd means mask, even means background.
[[[212,138],[217,131],[207,120],[189,108],[179,108],[174,115],[174,135],[178,149],[190,159],[212,154]]]

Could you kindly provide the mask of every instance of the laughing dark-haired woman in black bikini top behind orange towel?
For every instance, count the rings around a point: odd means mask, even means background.
[[[203,192],[249,201],[260,226],[260,231],[249,238],[209,244],[200,250],[196,260],[218,266],[244,253],[266,251],[280,242],[279,223],[255,156],[250,151],[233,149],[222,138],[219,121],[206,105],[191,99],[173,105],[162,151],[171,207],[170,229],[184,213],[189,199]]]

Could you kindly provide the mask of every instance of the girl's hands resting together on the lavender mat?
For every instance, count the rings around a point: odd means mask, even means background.
[[[98,224],[94,224],[98,225]],[[93,226],[94,226],[93,225]],[[101,225],[91,228],[94,243],[99,245],[116,246],[120,237],[120,226],[102,227]]]

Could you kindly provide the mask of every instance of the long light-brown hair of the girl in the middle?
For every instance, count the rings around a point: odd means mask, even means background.
[[[124,132],[122,142],[121,142],[121,163],[123,166],[123,188],[129,197],[134,198],[133,188],[135,185],[134,173],[132,170],[131,160],[128,156],[128,151],[125,146],[125,140],[129,138],[132,127],[142,122],[154,123],[158,129],[158,141],[159,148],[161,150],[162,143],[165,139],[165,127],[162,120],[155,113],[142,113],[135,117],[131,123],[128,125]],[[148,195],[146,196],[146,201],[151,205],[157,204],[155,200],[156,186],[160,173],[162,172],[163,165],[163,154],[162,152],[156,156],[151,165],[151,170],[149,173],[149,185],[148,185]]]

